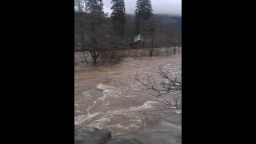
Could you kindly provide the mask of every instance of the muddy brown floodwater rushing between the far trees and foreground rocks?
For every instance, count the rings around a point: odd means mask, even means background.
[[[182,114],[155,102],[134,80],[136,72],[158,76],[162,65],[181,73],[182,56],[126,58],[112,66],[74,68],[74,121],[113,136],[138,138],[146,144],[182,143]]]

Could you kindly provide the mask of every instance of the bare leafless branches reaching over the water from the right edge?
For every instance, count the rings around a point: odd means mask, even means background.
[[[181,108],[181,75],[173,76],[170,71],[163,70],[162,66],[159,66],[159,70],[162,82],[154,82],[152,75],[138,74],[138,71],[135,80],[142,84],[142,89],[150,90],[155,101],[161,102],[170,108]]]

